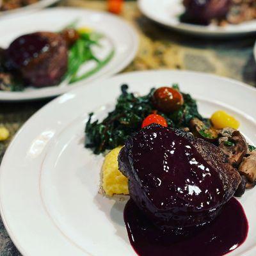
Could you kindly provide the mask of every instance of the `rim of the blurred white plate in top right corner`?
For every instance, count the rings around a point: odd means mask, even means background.
[[[154,22],[157,22],[157,24],[160,24],[162,26],[165,26],[166,28],[175,29],[176,31],[180,31],[183,33],[198,35],[198,36],[214,36],[214,37],[225,37],[225,36],[241,36],[246,35],[249,33],[256,33],[256,28],[254,30],[252,29],[236,29],[233,31],[227,31],[225,29],[217,28],[214,30],[206,29],[207,26],[200,26],[195,24],[186,24],[184,22],[180,22],[180,24],[171,24],[169,22],[164,22],[161,19],[157,19],[154,15],[152,15],[149,11],[147,6],[148,0],[138,0],[138,7],[148,19],[153,20]],[[256,20],[255,20],[256,24]],[[236,25],[234,25],[236,26]]]

